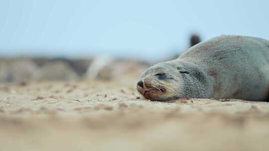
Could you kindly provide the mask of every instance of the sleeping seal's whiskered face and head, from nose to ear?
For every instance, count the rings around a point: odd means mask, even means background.
[[[137,91],[146,99],[167,101],[181,97],[179,67],[165,62],[147,69],[137,82]],[[185,72],[187,73],[187,72]]]

